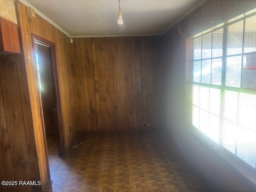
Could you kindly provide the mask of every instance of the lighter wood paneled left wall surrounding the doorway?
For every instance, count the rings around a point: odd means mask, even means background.
[[[78,113],[76,112],[78,106],[78,103],[76,102],[77,94],[74,94],[77,92],[76,71],[74,63],[72,62],[70,38],[37,14],[36,18],[29,18],[26,16],[26,6],[22,3],[19,3],[19,10],[26,72],[30,88],[32,110],[34,112],[34,126],[39,130],[42,129],[31,33],[56,44],[56,56],[60,79],[59,86],[61,90],[61,110],[63,115],[65,146],[67,148],[76,136],[78,128]]]

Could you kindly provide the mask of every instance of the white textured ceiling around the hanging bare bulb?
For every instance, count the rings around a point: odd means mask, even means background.
[[[159,35],[206,0],[20,0],[69,36]]]

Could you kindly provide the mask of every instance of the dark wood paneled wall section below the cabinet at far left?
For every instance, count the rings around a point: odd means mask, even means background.
[[[0,180],[40,180],[26,68],[21,54],[0,55]],[[42,182],[46,180],[42,178]],[[40,189],[41,186],[0,185],[1,192]]]

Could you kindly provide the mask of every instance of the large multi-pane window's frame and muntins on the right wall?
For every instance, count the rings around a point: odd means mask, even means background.
[[[244,94],[252,94],[252,95],[256,95],[256,89],[248,89],[248,88],[242,88],[242,69],[243,69],[243,62],[244,62],[244,56],[245,55],[249,55],[249,54],[256,54],[256,51],[254,52],[244,52],[244,39],[245,39],[245,24],[246,24],[246,19],[256,16],[256,9],[251,10],[245,14],[241,14],[240,16],[237,16],[235,18],[232,18],[226,22],[223,22],[222,24],[219,24],[217,26],[214,26],[208,30],[205,30],[199,34],[196,34],[190,38],[188,38],[186,40],[186,127],[192,127],[193,131],[200,131],[198,128],[196,128],[193,124],[192,124],[192,86],[193,85],[197,85],[197,86],[204,86],[204,87],[208,87],[209,88],[209,92],[210,92],[210,88],[217,88],[220,90],[220,122],[219,122],[219,139],[218,139],[218,144],[220,146],[222,146],[224,149],[226,149],[223,146],[223,121],[224,121],[224,92],[225,91],[233,91],[233,92],[237,92],[238,93],[238,102],[239,102],[239,95],[240,93],[244,93]],[[242,52],[240,54],[231,54],[228,55],[227,54],[227,44],[228,44],[228,26],[240,22],[243,20],[243,32],[242,32]],[[218,56],[218,57],[212,57],[212,45],[211,45],[211,57],[210,58],[202,58],[202,39],[201,39],[201,58],[200,59],[196,59],[194,60],[194,39],[199,38],[202,36],[206,36],[210,33],[213,34],[213,32],[220,30],[221,28],[223,28],[223,41],[222,41],[222,56]],[[213,38],[213,35],[212,37]],[[213,44],[213,42],[211,42]],[[226,86],[225,84],[225,79],[226,79],[226,65],[227,65],[227,58],[229,57],[234,57],[234,56],[241,56],[241,71],[240,71],[240,87],[232,87],[232,86]],[[221,85],[216,85],[216,84],[212,84],[212,60],[213,59],[218,59],[218,58],[222,58],[222,79],[221,79]],[[201,75],[200,78],[202,78],[202,60],[211,60],[211,72],[210,72],[210,83],[202,83],[202,80],[200,80],[200,82],[194,82],[193,81],[193,62],[194,61],[201,61]],[[210,95],[209,95],[210,98]],[[200,108],[199,108],[200,109]],[[210,112],[210,111],[208,111]],[[238,120],[236,122],[236,125],[238,125]],[[200,131],[200,134],[204,134],[202,131]],[[208,135],[204,134],[204,136],[210,138]],[[210,140],[212,140],[210,138]],[[236,143],[236,151],[237,151],[237,143]],[[228,150],[228,149],[226,149]],[[232,152],[230,152],[232,153]],[[232,153],[233,154],[233,153]],[[234,155],[236,156],[236,158],[239,158],[236,154],[236,152],[234,153]],[[240,160],[242,160],[241,158],[239,158]],[[248,164],[248,162],[242,160],[243,162],[245,162],[246,164]],[[255,167],[250,166],[251,168],[253,168],[254,170],[256,169],[256,162],[255,162]]]

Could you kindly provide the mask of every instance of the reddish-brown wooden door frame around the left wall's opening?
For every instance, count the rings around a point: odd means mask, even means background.
[[[45,44],[49,46],[50,49],[50,60],[51,60],[51,70],[52,70],[52,80],[53,80],[53,96],[56,105],[56,117],[57,117],[57,140],[58,140],[58,154],[59,156],[65,156],[65,141],[64,141],[64,129],[63,129],[63,115],[61,110],[61,98],[60,98],[60,78],[59,78],[59,70],[58,70],[58,62],[56,57],[56,44],[47,39],[44,39],[36,34],[31,33],[32,35],[32,45],[33,45],[33,54],[34,54],[34,64],[36,58],[36,44],[35,41]],[[38,73],[35,71],[38,81]],[[48,151],[46,144],[46,134],[44,128],[44,116],[43,116],[43,108],[42,108],[42,100],[40,88],[38,87],[39,100],[40,100],[40,110],[41,110],[41,118],[42,118],[42,127],[43,127],[43,135],[44,135],[44,146],[46,150],[46,161],[48,166],[48,171],[50,174],[49,161],[48,161]]]

